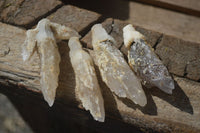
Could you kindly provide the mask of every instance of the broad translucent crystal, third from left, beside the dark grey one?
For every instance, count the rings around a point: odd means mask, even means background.
[[[119,97],[129,98],[135,104],[145,106],[147,100],[139,79],[115,47],[115,40],[101,24],[92,27],[92,45],[95,63],[111,91]]]

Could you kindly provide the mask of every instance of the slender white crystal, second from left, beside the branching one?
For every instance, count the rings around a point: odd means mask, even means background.
[[[90,55],[82,49],[77,37],[69,40],[70,59],[76,75],[76,95],[83,107],[89,110],[93,118],[104,122],[105,111],[103,97]]]

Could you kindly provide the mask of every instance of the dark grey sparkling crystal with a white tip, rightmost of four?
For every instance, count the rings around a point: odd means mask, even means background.
[[[174,80],[167,68],[154,53],[145,37],[129,24],[123,28],[124,45],[128,48],[130,66],[147,86],[156,86],[162,91],[171,94],[174,89]]]

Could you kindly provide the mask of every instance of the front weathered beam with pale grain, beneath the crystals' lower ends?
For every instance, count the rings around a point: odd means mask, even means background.
[[[120,23],[118,20],[114,20],[114,22]],[[121,33],[118,34],[120,35]],[[117,37],[118,34],[113,36]],[[15,85],[15,87],[11,88],[16,90],[18,96],[23,95],[23,93],[19,93],[21,86],[25,87],[24,93],[28,90],[31,90],[28,93],[35,91],[36,93],[34,94],[38,94],[40,92],[40,60],[38,54],[35,53],[29,62],[22,61],[21,45],[24,39],[24,30],[0,23],[0,84],[1,88],[11,93],[13,90],[10,90],[10,87],[7,87],[7,85]],[[75,75],[69,61],[67,42],[59,43],[58,47],[61,54],[61,73],[59,75],[59,87],[57,89],[54,107],[56,108],[56,105],[61,103],[60,108],[64,105],[69,105],[69,107],[77,109],[78,113],[79,111],[80,113],[85,112],[84,115],[79,117],[79,121],[84,121],[85,117],[88,118],[91,116],[78,106],[75,98]],[[96,71],[98,72],[98,69]],[[98,80],[102,89],[107,116],[105,124],[97,123],[89,119],[88,122],[95,128],[102,127],[106,129],[109,127],[120,127],[120,123],[123,121],[144,130],[160,132],[200,131],[200,83],[175,77],[176,89],[173,91],[173,95],[165,94],[157,88],[144,88],[148,103],[142,108],[127,99],[121,99],[113,95],[101,80],[99,73]],[[41,94],[39,95],[41,98]],[[45,106],[48,109],[47,104]],[[73,112],[73,110],[70,110],[69,115]],[[114,122],[110,121],[110,118]],[[86,122],[86,124],[88,123]],[[115,129],[118,128],[113,128],[113,130]],[[124,126],[118,132],[123,131],[125,131]]]

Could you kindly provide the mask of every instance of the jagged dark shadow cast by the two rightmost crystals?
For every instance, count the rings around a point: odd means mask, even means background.
[[[193,114],[193,108],[192,108],[189,98],[176,82],[175,82],[175,89],[173,90],[172,95],[164,93],[159,88],[148,89],[148,88],[143,87],[143,89],[147,97],[147,104],[144,107],[136,105],[129,99],[119,98],[119,97],[118,99],[120,99],[124,104],[126,104],[128,107],[133,108],[134,110],[138,108],[144,114],[157,115],[157,107],[151,96],[153,95],[153,96],[159,97],[160,99],[163,99],[164,101],[170,103],[171,105],[180,109],[181,111],[187,112],[189,114]]]

